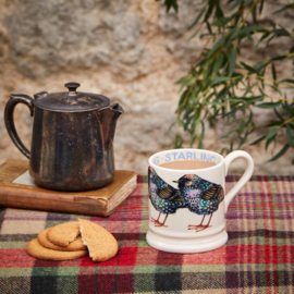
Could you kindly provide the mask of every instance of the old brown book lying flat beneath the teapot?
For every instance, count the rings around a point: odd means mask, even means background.
[[[136,172],[117,170],[112,183],[106,187],[58,192],[36,186],[27,170],[28,161],[22,160],[10,159],[0,166],[0,206],[107,217],[137,185]],[[24,180],[19,180],[20,176]],[[13,183],[16,179],[17,183]]]

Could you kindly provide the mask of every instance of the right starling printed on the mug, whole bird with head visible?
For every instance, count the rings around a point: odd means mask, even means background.
[[[218,210],[219,204],[224,197],[222,186],[206,181],[196,174],[186,174],[174,182],[177,183],[180,194],[184,198],[188,210],[204,216],[199,224],[191,224],[188,230],[195,229],[196,232],[200,232],[209,228],[212,213]],[[210,218],[207,224],[204,224],[205,217],[209,215]]]

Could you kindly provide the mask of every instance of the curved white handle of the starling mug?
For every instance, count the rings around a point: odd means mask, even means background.
[[[225,169],[224,174],[225,175],[228,174],[229,166],[236,158],[244,158],[246,160],[246,169],[242,177],[237,181],[237,183],[229,191],[229,193],[224,197],[224,206],[225,206],[224,212],[225,213],[228,211],[228,207],[230,203],[233,200],[233,198],[236,196],[240,189],[249,181],[254,172],[254,161],[253,161],[252,156],[245,151],[237,150],[237,151],[231,152],[224,159],[224,169]]]

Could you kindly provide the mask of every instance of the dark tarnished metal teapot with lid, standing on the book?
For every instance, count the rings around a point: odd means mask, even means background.
[[[113,137],[118,118],[124,112],[109,98],[76,91],[78,83],[66,83],[69,91],[40,91],[34,99],[12,94],[4,122],[14,145],[29,159],[29,174],[37,186],[57,191],[88,191],[108,185],[114,174]],[[30,151],[20,139],[13,120],[17,103],[34,117]]]

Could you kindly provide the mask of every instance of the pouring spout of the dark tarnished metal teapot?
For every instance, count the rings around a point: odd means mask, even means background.
[[[119,103],[113,103],[107,108],[98,110],[106,150],[112,146],[117,121],[123,112],[124,110]]]

